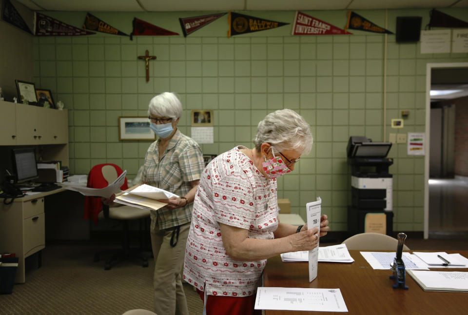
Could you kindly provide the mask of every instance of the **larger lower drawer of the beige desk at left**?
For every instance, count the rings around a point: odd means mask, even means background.
[[[45,247],[45,214],[23,220],[24,258]]]

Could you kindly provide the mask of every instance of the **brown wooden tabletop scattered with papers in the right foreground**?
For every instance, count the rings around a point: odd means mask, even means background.
[[[446,251],[468,257],[468,251]],[[269,258],[264,271],[265,287],[339,288],[349,313],[314,312],[313,314],[466,314],[468,294],[460,292],[427,292],[407,274],[408,290],[393,289],[390,270],[374,270],[359,253],[350,250],[353,263],[318,264],[318,276],[309,282],[307,262],[282,262]],[[436,269],[464,271],[468,268]],[[271,311],[266,315],[305,314],[298,311]]]

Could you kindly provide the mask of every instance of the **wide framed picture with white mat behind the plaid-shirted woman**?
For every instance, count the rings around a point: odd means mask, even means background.
[[[156,140],[148,117],[119,117],[119,140]]]

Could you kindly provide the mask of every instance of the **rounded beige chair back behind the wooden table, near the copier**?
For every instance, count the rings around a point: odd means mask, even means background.
[[[361,233],[345,239],[341,244],[346,244],[349,250],[396,251],[398,240],[380,233]],[[403,245],[403,250],[409,251],[408,246]]]

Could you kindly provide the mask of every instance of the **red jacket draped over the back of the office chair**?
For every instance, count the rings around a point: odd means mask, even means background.
[[[98,164],[94,166],[91,169],[91,171],[89,171],[88,183],[86,184],[86,187],[104,188],[109,185],[107,180],[104,179],[104,176],[102,176],[102,167],[105,165],[114,166],[117,171],[117,176],[120,176],[120,174],[123,173],[122,169],[118,167],[116,164],[112,164],[112,163]],[[127,177],[125,177],[125,182],[120,187],[120,189],[121,190],[128,189]],[[85,219],[89,219],[92,217],[94,224],[98,224],[98,214],[101,210],[102,210],[101,197],[90,197],[90,196],[85,197],[85,200],[84,200],[84,218]]]

